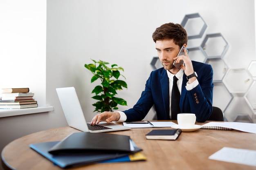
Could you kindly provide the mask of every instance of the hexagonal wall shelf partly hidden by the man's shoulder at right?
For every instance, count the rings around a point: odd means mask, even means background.
[[[222,82],[228,71],[227,64],[221,58],[209,58],[205,63],[211,64],[213,68],[213,82]]]

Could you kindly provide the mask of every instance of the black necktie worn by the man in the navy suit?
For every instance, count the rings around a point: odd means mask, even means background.
[[[177,86],[177,77],[173,77],[173,91],[171,98],[171,119],[177,120],[177,114],[180,113],[180,92]]]

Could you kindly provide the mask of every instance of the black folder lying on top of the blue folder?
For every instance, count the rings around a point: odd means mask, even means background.
[[[110,133],[72,133],[48,150],[50,154],[84,152],[132,152],[130,137]]]

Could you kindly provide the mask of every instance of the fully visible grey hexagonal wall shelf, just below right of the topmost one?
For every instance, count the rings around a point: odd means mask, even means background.
[[[221,33],[207,34],[201,44],[204,55],[207,58],[222,58],[229,44]]]

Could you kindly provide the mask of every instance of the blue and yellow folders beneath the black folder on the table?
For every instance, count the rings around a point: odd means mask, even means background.
[[[101,133],[103,134],[103,133]],[[130,139],[131,143],[134,142]],[[119,153],[119,152],[84,152],[84,153],[70,153],[67,155],[52,155],[48,150],[58,144],[60,141],[50,141],[30,144],[29,147],[43,155],[45,158],[52,161],[54,165],[61,168],[73,168],[77,166],[88,165],[92,163],[112,163],[112,162],[124,162],[124,161],[139,161],[146,160],[146,157],[142,155],[141,148],[133,145],[135,148],[131,153]],[[138,153],[139,155],[134,155]]]

